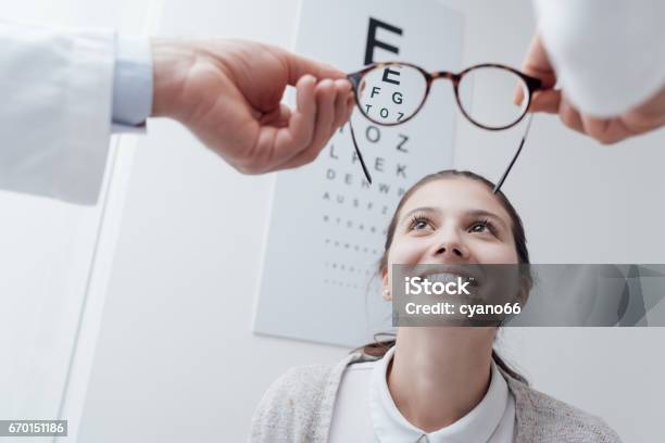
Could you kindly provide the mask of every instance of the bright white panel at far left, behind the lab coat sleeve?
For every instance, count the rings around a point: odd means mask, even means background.
[[[0,20],[137,33],[145,4],[0,1]],[[108,178],[95,206],[0,191],[0,419],[55,419],[62,410]]]

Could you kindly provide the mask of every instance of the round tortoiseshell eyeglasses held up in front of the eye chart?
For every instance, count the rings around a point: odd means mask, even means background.
[[[490,63],[468,67],[459,74],[447,71],[428,73],[411,63],[374,63],[349,74],[347,78],[351,81],[355,104],[361,113],[372,123],[381,126],[397,126],[412,119],[423,109],[429,97],[431,84],[446,78],[452,81],[457,106],[470,123],[488,130],[507,129],[524,118],[531,103],[532,93],[542,87],[538,78],[509,66]],[[514,101],[516,90],[520,90],[523,94],[518,104]],[[475,98],[474,103],[472,98]],[[522,152],[530,123],[529,118],[519,148],[494,187],[494,193],[505,181]],[[365,178],[372,182],[372,176],[357,147],[351,119],[349,128]]]

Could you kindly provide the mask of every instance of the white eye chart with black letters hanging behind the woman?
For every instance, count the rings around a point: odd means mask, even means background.
[[[347,73],[387,61],[456,72],[462,31],[461,14],[436,0],[303,0],[294,51]],[[364,99],[378,116],[413,103],[418,93],[402,85],[396,94],[390,84],[398,77],[387,73],[388,81]],[[354,110],[372,185],[349,125],[314,163],[277,174],[255,332],[360,346],[375,332],[391,330],[391,305],[381,299],[378,273],[386,230],[409,187],[452,166],[455,110],[447,80],[435,83],[419,113],[399,126],[374,124]]]

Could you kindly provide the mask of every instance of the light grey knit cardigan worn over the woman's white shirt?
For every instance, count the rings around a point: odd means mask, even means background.
[[[261,400],[250,432],[252,443],[323,443],[341,376],[348,365],[363,359],[351,354],[336,365],[289,369]],[[538,392],[499,370],[515,396],[515,443],[618,443],[619,436],[603,419]]]

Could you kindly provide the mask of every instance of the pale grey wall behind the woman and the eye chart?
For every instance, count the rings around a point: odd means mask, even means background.
[[[535,26],[528,1],[446,3],[466,15],[466,65],[519,66]],[[161,34],[288,48],[297,11],[297,0],[167,0]],[[456,164],[492,179],[522,136],[463,119],[457,128]],[[79,441],[243,441],[276,377],[347,350],[250,331],[273,177],[237,174],[176,124],[150,122],[149,132],[135,157]],[[504,188],[532,261],[665,263],[663,145],[661,130],[602,147],[537,116]],[[627,442],[660,435],[664,340],[664,329],[503,338],[536,388],[604,417]]]

